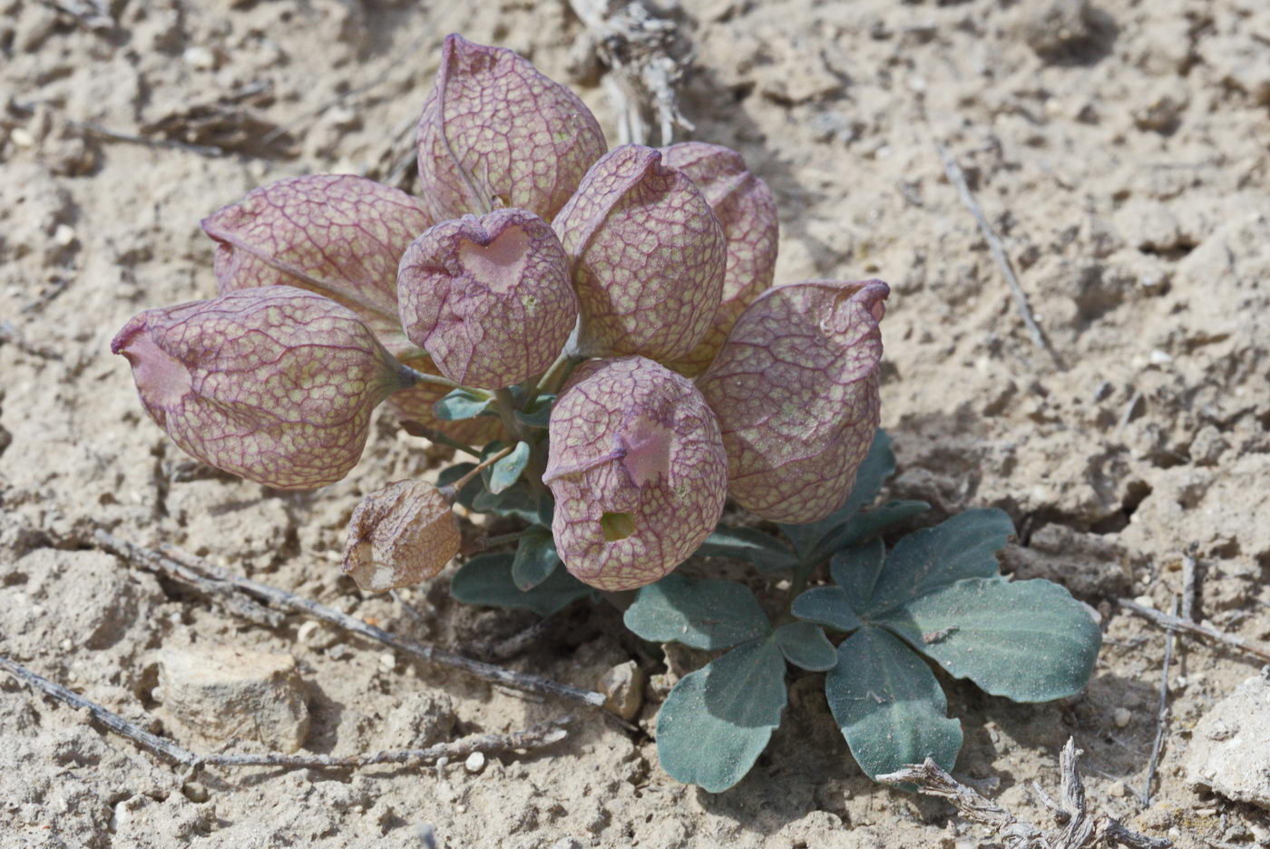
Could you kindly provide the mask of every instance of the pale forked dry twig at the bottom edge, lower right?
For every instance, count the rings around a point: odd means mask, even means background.
[[[1110,816],[1091,816],[1085,802],[1085,784],[1080,774],[1081,751],[1076,740],[1068,739],[1059,755],[1063,773],[1062,803],[1041,793],[1041,800],[1055,812],[1062,827],[1058,831],[1041,829],[1019,820],[996,802],[984,798],[975,789],[961,784],[944,772],[930,758],[923,764],[909,764],[903,769],[879,775],[888,784],[912,782],[926,796],[949,800],[966,820],[988,826],[1001,835],[1010,849],[1093,849],[1093,846],[1130,846],[1132,849],[1167,849],[1168,840],[1148,838],[1130,831]]]

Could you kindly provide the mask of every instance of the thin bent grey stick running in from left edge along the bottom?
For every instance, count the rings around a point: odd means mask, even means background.
[[[511,731],[507,734],[485,734],[464,737],[453,742],[442,742],[427,749],[389,749],[385,751],[364,753],[358,755],[284,755],[273,751],[229,754],[229,755],[199,755],[188,749],[178,746],[170,740],[165,740],[150,734],[145,728],[128,722],[118,713],[105,709],[97,702],[77,695],[61,684],[55,684],[43,675],[33,673],[25,666],[17,664],[8,657],[0,656],[0,669],[4,669],[17,678],[20,678],[30,687],[42,690],[60,702],[65,702],[74,708],[86,709],[94,720],[104,725],[110,731],[123,735],[140,744],[161,758],[198,769],[201,767],[282,767],[284,769],[356,769],[358,767],[373,767],[376,764],[425,764],[436,763],[441,758],[458,760],[474,751],[485,754],[512,750],[542,749],[559,742],[569,736],[563,727],[566,720],[554,722],[541,722],[525,731]]]

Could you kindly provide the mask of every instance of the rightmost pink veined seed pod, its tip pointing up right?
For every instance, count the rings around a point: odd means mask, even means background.
[[[737,320],[697,386],[719,416],[728,492],[773,522],[842,506],[878,429],[881,280],[777,286]]]

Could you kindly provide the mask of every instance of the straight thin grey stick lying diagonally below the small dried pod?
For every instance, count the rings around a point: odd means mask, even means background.
[[[323,622],[329,622],[334,626],[339,626],[345,631],[352,631],[353,633],[368,637],[377,642],[382,642],[386,646],[391,646],[398,651],[413,655],[419,660],[424,660],[429,664],[438,664],[442,666],[452,666],[453,669],[460,669],[470,675],[484,679],[494,684],[503,684],[517,690],[525,690],[528,693],[537,693],[540,695],[556,695],[566,698],[574,702],[580,702],[588,707],[603,708],[605,695],[603,693],[596,693],[593,690],[584,690],[570,684],[561,684],[547,678],[541,678],[538,675],[531,675],[527,673],[516,673],[509,669],[503,669],[500,666],[494,666],[491,664],[484,664],[479,660],[472,660],[470,657],[464,657],[462,655],[456,655],[443,648],[436,648],[434,646],[420,646],[419,643],[404,640],[394,633],[378,628],[376,626],[368,624],[357,617],[351,617],[345,613],[340,613],[333,608],[324,604],[319,604],[311,599],[296,595],[295,593],[288,593],[287,590],[278,589],[276,586],[269,586],[268,584],[260,584],[259,581],[253,581],[241,575],[234,575],[225,570],[217,570],[211,563],[203,561],[199,557],[188,555],[173,546],[164,546],[161,552],[155,552],[157,556],[173,561],[175,563],[187,566],[196,572],[208,572],[210,570],[216,570],[224,576],[224,580],[232,584],[237,589],[258,598],[264,599],[269,604],[273,604],[295,613],[312,617],[315,619],[321,619]],[[218,575],[218,576],[220,576]],[[607,712],[606,712],[607,713]]]

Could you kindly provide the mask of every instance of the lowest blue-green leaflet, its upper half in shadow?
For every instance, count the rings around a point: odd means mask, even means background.
[[[721,793],[767,747],[787,697],[785,659],[770,638],[685,675],[657,717],[662,768],[676,780]]]

